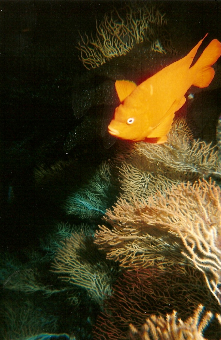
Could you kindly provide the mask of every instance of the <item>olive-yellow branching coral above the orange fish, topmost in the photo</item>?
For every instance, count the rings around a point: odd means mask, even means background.
[[[153,3],[126,5],[122,16],[116,9],[109,16],[105,14],[99,26],[96,21],[95,37],[80,36],[80,60],[87,69],[96,68],[115,56],[125,55],[144,40],[151,41],[154,51],[174,52],[168,33],[162,29],[164,17]]]

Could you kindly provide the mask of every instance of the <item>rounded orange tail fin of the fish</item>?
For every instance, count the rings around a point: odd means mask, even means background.
[[[211,65],[215,64],[221,55],[221,43],[214,39],[205,48],[196,64],[192,68],[197,68],[196,77],[192,85],[203,88],[207,87],[214,78],[215,71]]]

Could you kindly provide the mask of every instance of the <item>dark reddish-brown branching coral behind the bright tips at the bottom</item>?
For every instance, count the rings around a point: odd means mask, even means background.
[[[152,266],[124,271],[97,318],[94,339],[126,340],[131,323],[140,327],[147,316],[165,316],[174,309],[180,318],[186,319],[199,303],[213,313],[220,312],[208,287],[201,284],[202,278],[202,273],[196,269],[177,265],[166,270]]]

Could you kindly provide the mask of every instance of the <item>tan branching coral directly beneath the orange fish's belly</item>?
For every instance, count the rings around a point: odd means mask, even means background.
[[[185,173],[196,172],[208,176],[217,170],[217,148],[211,143],[195,140],[185,119],[173,123],[168,140],[169,143],[156,145],[155,148],[142,143],[138,154],[144,154],[152,162],[164,163],[167,167]]]

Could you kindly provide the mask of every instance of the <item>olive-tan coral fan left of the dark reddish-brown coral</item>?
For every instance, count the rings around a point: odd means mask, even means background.
[[[100,305],[105,295],[111,293],[112,269],[83,233],[73,233],[63,241],[52,262],[52,271],[62,281],[85,288]]]

